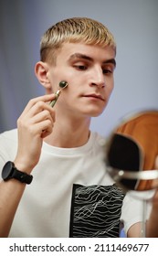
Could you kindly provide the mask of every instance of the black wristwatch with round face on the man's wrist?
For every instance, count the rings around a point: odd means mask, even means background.
[[[16,166],[13,162],[8,161],[6,162],[3,170],[2,170],[2,178],[7,181],[11,178],[16,178],[18,181],[26,184],[30,184],[33,176],[27,175],[16,169]]]

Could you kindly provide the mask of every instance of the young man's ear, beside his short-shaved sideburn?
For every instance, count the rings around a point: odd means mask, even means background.
[[[37,80],[45,87],[47,91],[51,90],[51,84],[48,79],[48,65],[43,61],[38,61],[35,66]]]

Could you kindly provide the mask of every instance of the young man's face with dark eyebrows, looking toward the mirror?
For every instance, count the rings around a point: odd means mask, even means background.
[[[81,43],[67,43],[58,50],[55,66],[49,67],[53,91],[60,80],[68,81],[56,109],[77,116],[98,116],[106,107],[113,89],[115,52]]]

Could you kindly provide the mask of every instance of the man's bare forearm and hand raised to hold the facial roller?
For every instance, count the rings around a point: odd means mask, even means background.
[[[47,101],[54,99],[51,94],[29,101],[17,121],[18,147],[14,164],[28,175],[39,161],[43,139],[52,133],[55,112]],[[0,183],[0,237],[8,236],[25,187],[14,178]]]

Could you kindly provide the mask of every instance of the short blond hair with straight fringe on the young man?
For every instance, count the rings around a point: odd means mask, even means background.
[[[84,43],[100,47],[110,46],[116,51],[114,37],[107,27],[87,17],[73,17],[47,29],[40,42],[40,59],[52,62],[63,43]]]

